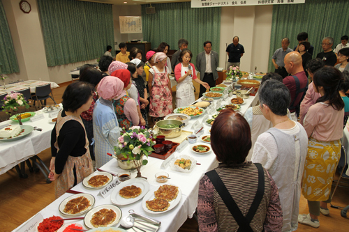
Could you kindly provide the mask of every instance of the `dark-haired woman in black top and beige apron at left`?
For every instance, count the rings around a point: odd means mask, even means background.
[[[56,198],[93,172],[89,141],[80,114],[91,106],[94,87],[86,82],[70,84],[62,96],[63,110],[51,134],[50,180]]]

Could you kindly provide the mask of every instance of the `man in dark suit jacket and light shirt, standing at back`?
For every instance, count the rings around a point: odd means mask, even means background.
[[[200,79],[202,82],[209,84],[209,87],[216,86],[216,79],[218,79],[217,67],[219,63],[219,56],[217,52],[211,51],[212,42],[204,42],[204,52],[200,52],[196,56],[196,68],[200,72]],[[200,85],[199,98],[202,93],[206,92],[206,88]]]

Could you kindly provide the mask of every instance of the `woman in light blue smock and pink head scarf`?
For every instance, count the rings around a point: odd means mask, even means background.
[[[124,89],[124,83],[115,77],[104,77],[98,84],[97,92],[99,99],[94,106],[94,155],[96,157],[96,168],[102,167],[112,159],[107,153],[114,153],[117,139],[120,137],[120,127],[117,116],[112,105]]]

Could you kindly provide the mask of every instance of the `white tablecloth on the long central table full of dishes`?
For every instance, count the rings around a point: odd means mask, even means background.
[[[235,98],[235,95],[233,95],[233,98]],[[223,104],[228,104],[230,103],[230,99],[225,102],[223,101],[221,105]],[[240,112],[243,114],[248,107],[251,105],[255,105],[257,102],[258,98],[255,97],[250,97],[245,100],[246,104],[242,105],[242,108],[240,109]],[[213,104],[216,104],[216,100],[214,100]],[[195,121],[202,120],[203,116],[200,116],[199,118],[193,118],[191,121],[189,121],[188,125],[183,128],[183,130],[187,131],[193,131],[191,130],[191,126]],[[204,134],[207,134],[210,130],[209,125],[204,125],[205,127],[205,132]],[[199,144],[199,140],[198,143]],[[200,143],[201,144],[201,143]],[[195,169],[191,171],[191,173],[181,173],[177,171],[172,171],[170,167],[167,169],[163,170],[161,169],[161,164],[163,163],[163,160],[156,159],[154,157],[148,157],[148,164],[141,169],[142,176],[146,176],[148,178],[148,182],[150,185],[150,190],[153,187],[158,187],[162,184],[157,183],[155,179],[155,174],[159,171],[166,171],[170,175],[170,180],[166,184],[169,185],[177,185],[181,192],[181,201],[179,204],[174,207],[172,210],[168,212],[164,212],[162,214],[150,214],[145,212],[142,209],[142,200],[137,201],[135,203],[131,203],[127,206],[119,206],[122,211],[122,216],[125,217],[128,215],[128,210],[135,210],[140,215],[144,215],[147,217],[151,217],[154,219],[157,219],[161,221],[161,227],[159,231],[177,231],[181,225],[186,221],[187,217],[192,217],[193,213],[195,212],[196,206],[198,205],[198,187],[199,187],[199,182],[202,176],[205,175],[205,173],[211,169],[214,169],[215,167],[218,166],[218,162],[216,160],[216,155],[211,151],[208,154],[205,155],[199,155],[196,153],[193,153],[191,151],[191,147],[194,146],[195,144],[189,144],[186,148],[181,153],[174,152],[174,156],[177,155],[190,155],[191,157],[194,157],[195,160],[197,160],[198,163],[201,165],[196,165]],[[114,173],[117,173],[120,169],[117,166],[117,160],[111,160],[110,162],[107,162],[103,167],[101,167],[103,171],[111,171]],[[131,175],[131,178],[135,178],[136,173],[133,172]],[[100,206],[103,204],[112,204],[112,201],[110,199],[110,196],[107,196],[107,198],[103,198],[101,194],[99,194],[99,190],[89,190],[85,188],[82,183],[79,183],[75,187],[73,187],[73,190],[78,191],[78,192],[85,192],[89,193],[95,196],[96,198],[96,203],[95,206]],[[60,215],[58,207],[61,201],[66,199],[66,197],[71,196],[71,194],[64,194],[61,196],[59,199],[56,201],[52,202],[49,206],[44,208],[43,210],[40,211],[40,214],[43,215],[44,218],[46,217],[51,217],[52,215]],[[82,221],[70,221],[71,223],[73,222],[80,222],[80,224],[83,224]],[[23,224],[22,224],[23,225]],[[117,224],[119,226],[119,224]],[[20,227],[19,227],[20,228]],[[18,228],[17,228],[18,229]],[[15,229],[15,231],[17,231]]]

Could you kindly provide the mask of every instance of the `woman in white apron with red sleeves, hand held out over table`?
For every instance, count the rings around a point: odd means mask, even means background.
[[[177,108],[186,107],[195,101],[193,80],[202,84],[205,88],[209,88],[209,84],[200,81],[200,79],[196,77],[195,67],[193,63],[189,63],[192,57],[193,54],[189,49],[183,49],[179,55],[179,61],[181,63],[177,64],[174,68],[174,77],[178,82],[176,87]]]

